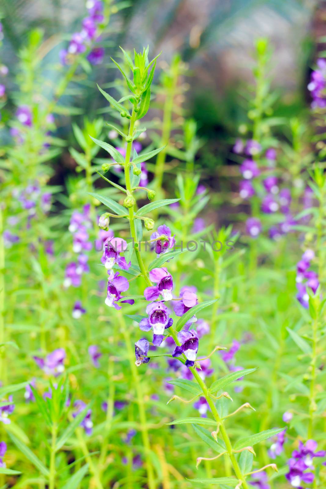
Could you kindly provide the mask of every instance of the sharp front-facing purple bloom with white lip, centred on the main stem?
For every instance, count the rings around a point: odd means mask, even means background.
[[[169,317],[168,308],[163,302],[152,302],[146,308],[148,318],[143,318],[139,323],[142,331],[153,329],[153,345],[160,346],[163,341],[164,330],[170,328],[173,319]]]

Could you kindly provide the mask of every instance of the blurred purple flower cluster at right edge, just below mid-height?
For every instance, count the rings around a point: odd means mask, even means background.
[[[307,249],[302,255],[301,260],[297,263],[297,299],[304,309],[308,309],[309,307],[309,294],[307,288],[311,289],[315,294],[319,287],[317,273],[313,270],[309,270],[310,263],[314,258],[314,251],[312,249]]]

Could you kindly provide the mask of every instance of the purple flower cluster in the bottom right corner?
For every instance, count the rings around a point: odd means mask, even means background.
[[[314,481],[313,459],[325,457],[325,450],[317,450],[317,442],[308,440],[305,444],[299,442],[299,449],[292,452],[292,458],[288,461],[289,471],[285,474],[292,487],[304,489],[302,484],[312,484]]]

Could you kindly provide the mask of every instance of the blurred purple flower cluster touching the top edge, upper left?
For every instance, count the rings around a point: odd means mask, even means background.
[[[100,0],[87,0],[88,17],[82,22],[82,30],[75,32],[70,39],[67,49],[60,51],[60,61],[63,65],[73,62],[75,56],[84,53],[94,42],[99,41],[99,25],[104,21],[103,3]],[[104,59],[104,48],[93,47],[87,55],[91,65],[100,65]]]

